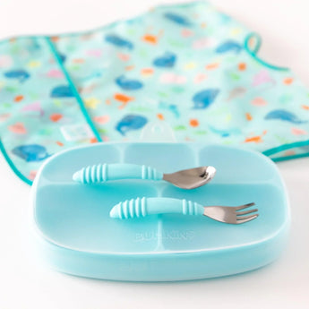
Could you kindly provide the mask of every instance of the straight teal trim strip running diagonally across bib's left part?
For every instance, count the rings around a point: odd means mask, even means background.
[[[64,64],[63,64],[62,60],[60,59],[59,54],[56,51],[56,47],[54,46],[54,44],[52,43],[52,41],[48,37],[45,37],[45,39],[47,40],[47,44],[50,47],[51,52],[52,52],[53,56],[55,57],[57,64],[59,65],[61,71],[64,73],[64,76],[65,76],[67,82],[69,83],[71,90],[73,91],[73,95],[74,95],[76,101],[78,102],[78,104],[79,104],[79,106],[82,110],[82,115],[85,117],[87,124],[89,124],[89,126],[92,130],[92,133],[94,133],[98,142],[102,142],[102,139],[99,135],[99,132],[97,131],[95,125],[92,123],[86,107],[83,105],[83,101],[82,101],[80,94],[78,93],[69,73],[67,73],[66,69],[64,68]]]

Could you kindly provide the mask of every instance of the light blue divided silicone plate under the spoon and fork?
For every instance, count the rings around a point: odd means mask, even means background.
[[[193,190],[166,182],[124,180],[82,185],[73,172],[99,163],[134,163],[165,173],[211,165],[217,175]],[[193,143],[99,143],[48,159],[32,187],[39,253],[59,271],[96,279],[203,279],[254,270],[278,258],[288,235],[285,186],[262,154]],[[260,216],[243,225],[167,214],[111,219],[117,203],[173,197],[202,205],[255,202]]]

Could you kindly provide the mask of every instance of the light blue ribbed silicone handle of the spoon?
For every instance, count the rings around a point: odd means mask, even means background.
[[[82,168],[73,175],[73,180],[82,184],[95,184],[120,179],[161,180],[162,177],[163,174],[152,167],[135,164],[99,164]]]

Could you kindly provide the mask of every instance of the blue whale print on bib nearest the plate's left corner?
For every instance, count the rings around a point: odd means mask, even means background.
[[[12,152],[27,162],[41,161],[50,157],[47,149],[39,144],[21,145],[15,147]]]

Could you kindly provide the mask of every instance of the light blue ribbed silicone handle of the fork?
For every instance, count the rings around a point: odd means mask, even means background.
[[[203,212],[204,207],[196,202],[167,197],[143,197],[142,199],[119,202],[110,210],[109,215],[111,218],[131,219],[163,213],[202,216]]]

